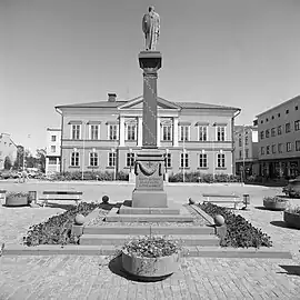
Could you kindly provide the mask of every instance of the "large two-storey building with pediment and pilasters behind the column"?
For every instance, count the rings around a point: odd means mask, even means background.
[[[130,171],[142,147],[142,97],[59,106],[62,116],[61,172]],[[233,126],[240,109],[158,98],[157,144],[167,172],[232,174]]]

